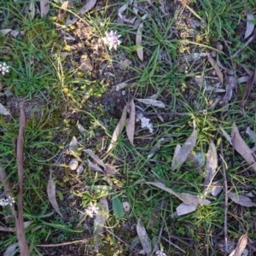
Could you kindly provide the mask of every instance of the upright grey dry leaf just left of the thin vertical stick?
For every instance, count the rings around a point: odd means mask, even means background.
[[[204,181],[205,193],[207,194],[209,185],[212,184],[212,179],[215,175],[216,169],[218,167],[218,156],[215,144],[211,141],[208,152],[207,152],[207,160],[206,160],[206,177]]]

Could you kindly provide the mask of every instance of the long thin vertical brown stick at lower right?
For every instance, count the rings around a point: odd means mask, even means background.
[[[225,199],[224,199],[224,243],[225,243],[225,253],[224,256],[227,256],[229,253],[228,249],[228,183],[227,183],[227,176],[226,176],[226,167],[225,162],[223,158],[223,143],[220,144],[220,152],[219,155],[222,160],[222,172],[224,177],[224,193],[225,193]]]

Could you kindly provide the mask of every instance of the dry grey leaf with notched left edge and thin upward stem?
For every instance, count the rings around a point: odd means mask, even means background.
[[[197,137],[197,131],[195,129],[195,120],[193,121],[193,125],[194,130],[192,134],[189,136],[189,138],[186,140],[186,142],[183,144],[183,146],[180,147],[180,145],[177,144],[177,147],[175,148],[175,153],[172,158],[172,171],[176,170],[177,168],[183,165],[185,160],[187,160],[189,153],[195,147]]]

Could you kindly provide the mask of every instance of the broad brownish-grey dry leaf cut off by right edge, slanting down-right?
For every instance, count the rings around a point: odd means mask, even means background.
[[[241,154],[241,156],[247,161],[248,164],[252,164],[251,166],[254,171],[256,171],[256,155],[253,150],[248,147],[247,143],[242,139],[237,127],[236,123],[232,125],[231,131],[232,137],[232,146],[236,149],[236,151]]]

